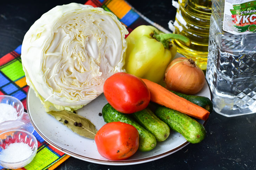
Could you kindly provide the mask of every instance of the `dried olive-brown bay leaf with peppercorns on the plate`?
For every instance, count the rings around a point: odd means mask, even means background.
[[[85,117],[80,116],[79,114],[75,114],[73,112],[68,112],[66,110],[63,111],[49,111],[48,114],[52,115],[56,120],[63,123],[63,125],[70,128],[73,132],[85,136],[89,139],[94,139],[97,130],[95,126],[90,122],[90,120]],[[67,120],[68,123],[64,123]],[[75,126],[74,123],[81,123],[82,126]]]

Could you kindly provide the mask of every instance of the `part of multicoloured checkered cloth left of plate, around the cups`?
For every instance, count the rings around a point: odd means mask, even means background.
[[[28,86],[21,65],[21,45],[14,51],[0,58],[0,95],[18,98],[27,111],[26,94]],[[69,155],[50,146],[36,131],[33,135],[38,140],[38,151],[31,163],[19,170],[53,170],[64,162]],[[0,166],[0,170],[6,170]]]

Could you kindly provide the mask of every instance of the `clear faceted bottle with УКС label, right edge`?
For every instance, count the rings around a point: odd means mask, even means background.
[[[214,110],[256,112],[256,1],[213,0],[206,79]]]

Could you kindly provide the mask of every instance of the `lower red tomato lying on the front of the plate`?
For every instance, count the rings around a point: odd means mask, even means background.
[[[109,160],[124,160],[139,148],[139,132],[122,122],[107,123],[95,135],[98,152]]]

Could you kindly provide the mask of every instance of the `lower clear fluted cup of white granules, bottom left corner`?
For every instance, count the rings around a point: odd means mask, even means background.
[[[0,133],[0,165],[18,169],[29,164],[36,155],[38,142],[35,136],[23,130]]]

